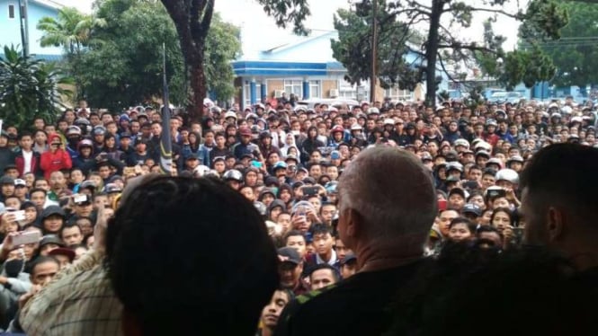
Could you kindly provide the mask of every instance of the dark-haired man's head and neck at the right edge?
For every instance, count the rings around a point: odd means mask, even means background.
[[[598,267],[598,148],[547,146],[520,177],[527,243],[563,252],[578,267]]]

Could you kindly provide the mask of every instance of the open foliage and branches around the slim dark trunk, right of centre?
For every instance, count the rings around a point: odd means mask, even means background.
[[[425,81],[426,102],[433,105],[436,100],[438,88],[437,77],[440,74],[454,82],[461,82],[466,72],[463,69],[481,66],[486,75],[501,78],[506,84],[513,84],[522,80],[526,85],[536,81],[550,78],[554,71],[549,58],[541,56],[541,50],[531,48],[523,51],[505,52],[502,49],[504,37],[495,35],[492,23],[498,16],[510,17],[523,22],[525,27],[536,34],[542,34],[546,39],[558,39],[560,30],[567,24],[567,9],[558,4],[556,0],[531,0],[526,11],[518,9],[508,12],[505,10],[510,0],[485,0],[485,1],[456,1],[456,0],[430,0],[420,2],[417,0],[376,0],[384,12],[379,15],[380,30],[391,30],[386,25],[402,27],[386,37],[383,35],[378,41],[382,51],[383,63],[394,67],[392,69],[379,68],[380,75],[384,73],[398,74],[399,87],[415,87]],[[513,0],[511,0],[513,1]],[[353,15],[360,16],[371,13],[371,0],[359,3],[353,10]],[[485,34],[482,43],[473,42],[460,36],[459,31],[469,28],[474,15],[489,16],[484,24]],[[369,78],[364,71],[365,64],[370,63],[367,45],[370,44],[370,26],[367,24],[351,24],[348,19],[351,14],[339,10],[340,18],[337,24],[339,41],[333,42],[335,57],[341,61],[351,78]],[[388,18],[388,20],[387,20]],[[358,22],[359,23],[359,22]],[[427,31],[422,26],[427,26]],[[350,33],[342,32],[343,29]],[[418,31],[426,35],[419,44],[407,44],[406,48],[398,48],[396,54],[384,51],[386,45],[392,45],[393,40],[407,41]],[[397,36],[400,34],[400,36]],[[361,42],[361,40],[365,40]],[[352,48],[358,49],[348,52]],[[420,59],[418,63],[405,66],[406,53],[415,55]],[[504,66],[497,62],[504,59]],[[362,65],[362,66],[359,66]],[[539,66],[539,69],[530,69],[528,66]],[[355,81],[356,82],[356,81]]]

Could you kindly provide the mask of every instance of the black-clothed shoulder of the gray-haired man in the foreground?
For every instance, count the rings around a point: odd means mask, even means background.
[[[282,311],[275,336],[373,334],[385,330],[389,305],[428,258],[387,270],[357,273],[335,285],[297,296]],[[366,332],[367,333],[367,332]]]

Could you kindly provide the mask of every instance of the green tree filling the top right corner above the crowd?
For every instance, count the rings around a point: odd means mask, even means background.
[[[556,66],[557,86],[596,83],[598,77],[598,4],[567,2],[569,22],[559,40],[549,40],[534,26],[522,26],[522,49],[540,48]]]

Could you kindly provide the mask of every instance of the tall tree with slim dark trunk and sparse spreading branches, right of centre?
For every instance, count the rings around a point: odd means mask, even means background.
[[[513,18],[519,22],[528,22],[528,24],[533,24],[535,27],[541,29],[549,39],[557,39],[560,29],[567,24],[567,11],[558,6],[556,0],[531,0],[527,10],[523,11],[519,9],[513,12],[508,12],[505,9],[506,4],[513,4],[513,1],[509,0],[486,0],[483,2],[431,0],[425,4],[417,0],[376,1],[378,1],[378,6],[384,9],[384,15],[377,17],[380,30],[383,31],[386,24],[402,22],[402,24],[406,25],[406,29],[403,31],[407,34],[407,37],[403,40],[408,39],[409,34],[412,34],[411,31],[420,31],[425,35],[425,39],[419,45],[406,44],[407,52],[415,55],[415,57],[420,58],[422,61],[409,66],[410,69],[406,72],[406,78],[398,81],[397,84],[402,88],[410,88],[415,86],[416,83],[425,81],[426,102],[431,105],[435,103],[440,74],[446,75],[451,81],[461,82],[460,77],[462,77],[462,74],[460,73],[460,67],[462,65],[477,66],[474,63],[481,58],[482,63],[485,63],[483,69],[486,73],[500,73],[501,78],[510,80],[511,78],[507,75],[513,74],[506,71],[507,67],[496,62],[496,60],[502,58],[504,59],[504,64],[508,63],[508,65],[512,66],[512,62],[519,62],[526,58],[522,57],[521,53],[515,55],[513,51],[505,52],[504,49],[500,48],[504,38],[495,35],[494,31],[491,30],[491,24],[486,27],[490,30],[486,31],[484,42],[472,42],[460,37],[459,32],[471,26],[474,15],[487,14],[490,16],[491,21],[495,21],[495,18],[498,16],[504,16]],[[370,7],[370,4],[371,0],[364,0],[361,5]],[[425,27],[425,29],[422,29],[422,27]],[[370,30],[368,26],[365,28]],[[359,29],[359,27],[355,29]],[[368,33],[361,31],[361,36],[367,37]],[[397,37],[394,37],[394,39],[397,39]],[[339,39],[339,41],[346,45],[347,48],[350,48],[351,44],[349,44],[347,39]],[[386,43],[388,43],[387,40],[380,39],[378,41],[379,48],[382,48],[381,46],[384,46]],[[537,50],[533,49],[531,51]],[[531,53],[531,51],[529,52]],[[366,63],[368,61],[367,55],[369,54],[370,45],[366,44],[362,47],[361,53],[356,53],[356,57],[351,59],[350,63]],[[404,56],[405,53],[397,53],[395,57]],[[393,58],[384,59],[383,61],[392,62]],[[495,61],[491,62],[489,59],[494,59]],[[340,61],[343,62],[342,59]],[[350,63],[344,62],[344,66]],[[403,65],[400,61],[396,63]],[[516,67],[521,69],[521,65]],[[545,67],[549,68],[549,66]],[[350,69],[351,66],[347,66],[347,68]],[[541,75],[545,73],[546,71],[538,72]],[[350,76],[353,75],[350,73]],[[525,76],[526,80],[529,80],[530,75],[533,74],[530,73]],[[546,77],[535,78],[535,80],[544,79]]]

